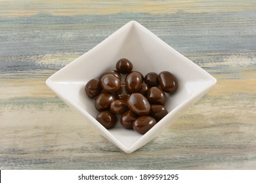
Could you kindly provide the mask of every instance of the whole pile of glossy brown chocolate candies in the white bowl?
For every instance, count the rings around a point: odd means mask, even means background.
[[[121,82],[122,76],[125,83]],[[144,134],[168,114],[165,93],[173,94],[177,88],[177,78],[169,71],[143,76],[133,71],[131,61],[122,58],[116,63],[116,70],[89,80],[85,92],[94,99],[99,111],[96,120],[106,129],[114,127],[116,115],[121,115],[123,127]]]

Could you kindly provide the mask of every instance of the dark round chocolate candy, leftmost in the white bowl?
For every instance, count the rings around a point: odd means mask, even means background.
[[[98,93],[100,93],[102,90],[100,86],[100,80],[97,78],[89,80],[87,84],[85,85],[85,92],[89,98],[94,98]]]

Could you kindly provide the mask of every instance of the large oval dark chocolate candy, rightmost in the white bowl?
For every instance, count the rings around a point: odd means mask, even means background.
[[[166,93],[175,93],[178,88],[178,81],[169,71],[163,71],[158,75],[161,89]]]

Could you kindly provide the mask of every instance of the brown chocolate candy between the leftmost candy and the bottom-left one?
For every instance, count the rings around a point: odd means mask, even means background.
[[[98,111],[108,110],[111,103],[116,99],[112,93],[102,92],[95,99],[95,108]]]

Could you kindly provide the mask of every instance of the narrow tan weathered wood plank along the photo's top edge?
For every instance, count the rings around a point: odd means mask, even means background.
[[[62,0],[2,0],[2,16],[32,16],[45,13],[76,16],[83,14],[113,14],[118,12],[173,13],[184,12],[237,12],[256,10],[255,1],[62,1]]]

